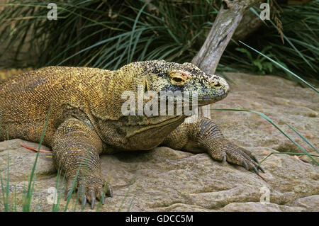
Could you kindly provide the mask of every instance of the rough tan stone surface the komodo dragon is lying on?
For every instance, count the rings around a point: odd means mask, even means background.
[[[213,108],[260,111],[311,154],[316,152],[284,124],[289,123],[318,147],[319,98],[310,89],[272,76],[227,74],[230,95]],[[211,111],[226,137],[250,149],[258,159],[271,152],[301,152],[273,125],[255,113]],[[23,140],[0,142],[0,171],[6,186],[9,154],[9,203],[22,209],[30,171],[37,154],[21,147],[37,148]],[[43,147],[44,148],[44,147]],[[318,158],[315,158],[318,161]],[[213,161],[208,154],[191,154],[167,147],[147,152],[101,156],[102,173],[111,182],[113,198],[99,211],[318,211],[319,167],[308,157],[272,154],[264,162],[266,180],[240,166]],[[31,210],[50,211],[48,203],[57,181],[51,154],[40,153],[36,166]],[[60,182],[62,179],[60,180]],[[48,190],[49,189],[49,190]],[[2,196],[1,196],[2,197]],[[0,210],[4,210],[0,198]],[[64,197],[60,210],[65,208]],[[77,202],[69,210],[79,210]],[[11,208],[13,205],[9,205]],[[92,211],[86,205],[86,211]]]

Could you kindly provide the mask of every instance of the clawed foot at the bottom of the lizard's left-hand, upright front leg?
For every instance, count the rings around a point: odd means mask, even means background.
[[[108,186],[102,176],[92,176],[94,174],[90,175],[82,176],[82,174],[79,174],[77,181],[75,181],[74,189],[72,189],[72,186],[75,176],[73,179],[69,179],[67,181],[67,195],[65,200],[72,195],[73,191],[77,191],[77,197],[79,197],[79,201],[82,203],[82,209],[84,208],[86,201],[91,204],[91,209],[94,209],[96,199],[101,201],[104,205],[105,197],[113,196],[111,186]]]

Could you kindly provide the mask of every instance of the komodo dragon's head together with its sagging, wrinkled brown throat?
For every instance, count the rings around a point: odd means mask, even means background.
[[[125,134],[133,149],[156,147],[186,116],[196,113],[196,103],[214,103],[225,98],[229,90],[223,78],[206,74],[194,64],[164,60],[126,64],[114,72],[113,78],[118,79],[108,84],[108,94],[116,101],[110,102],[108,98],[107,109],[121,108],[116,130]],[[117,99],[119,95],[121,101]]]

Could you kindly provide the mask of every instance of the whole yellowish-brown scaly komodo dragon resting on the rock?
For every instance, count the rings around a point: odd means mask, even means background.
[[[123,115],[123,91],[197,92],[198,106],[225,98],[227,82],[194,64],[164,60],[133,62],[110,71],[88,67],[44,67],[0,84],[0,140],[21,138],[52,147],[55,167],[65,172],[67,191],[78,172],[76,188],[82,206],[105,202],[111,187],[101,174],[100,154],[150,150],[159,145],[192,153],[208,152],[213,159],[244,166],[259,174],[257,159],[247,149],[223,137],[216,124],[198,116]],[[177,105],[174,105],[176,108]],[[79,168],[79,166],[82,166]],[[257,169],[258,168],[258,169]],[[67,192],[67,197],[70,192]]]

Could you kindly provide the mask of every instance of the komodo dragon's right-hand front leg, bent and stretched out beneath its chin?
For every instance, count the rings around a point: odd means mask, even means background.
[[[194,123],[183,123],[162,142],[163,146],[186,152],[208,152],[213,159],[244,166],[247,170],[264,172],[254,155],[242,147],[233,145],[212,120],[198,117]]]

